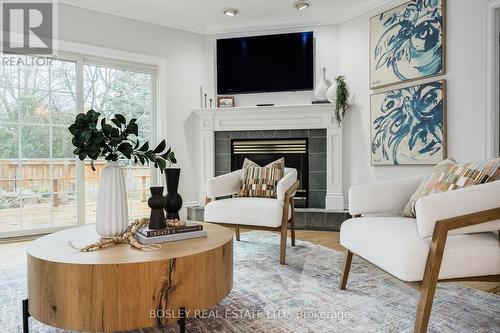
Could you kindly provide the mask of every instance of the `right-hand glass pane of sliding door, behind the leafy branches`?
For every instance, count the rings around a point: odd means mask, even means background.
[[[85,110],[94,109],[105,117],[121,113],[128,120],[137,118],[139,139],[151,141],[151,74],[139,73],[98,65],[84,65]],[[146,200],[150,183],[150,169],[146,166],[134,166],[130,161],[122,161],[127,184],[128,208],[132,218],[144,217],[149,209]],[[99,174],[106,165],[105,161],[95,163],[93,172],[87,163],[85,183],[87,190],[87,222],[95,222],[95,200]]]

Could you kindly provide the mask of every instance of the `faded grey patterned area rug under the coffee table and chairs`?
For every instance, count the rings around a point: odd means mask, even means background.
[[[279,264],[279,236],[242,234],[234,247],[234,287],[188,332],[412,332],[417,290],[354,257],[348,288],[337,287],[343,253],[297,241]],[[0,268],[0,332],[21,332],[20,300],[26,268]],[[30,318],[31,332],[66,332]],[[170,333],[144,329],[134,333]],[[457,284],[440,284],[429,332],[500,332],[500,297]]]

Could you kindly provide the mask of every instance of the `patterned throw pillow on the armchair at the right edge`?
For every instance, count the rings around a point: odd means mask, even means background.
[[[422,181],[406,205],[403,216],[415,217],[415,203],[430,194],[448,192],[464,187],[500,180],[500,157],[459,165],[453,158],[437,164]]]

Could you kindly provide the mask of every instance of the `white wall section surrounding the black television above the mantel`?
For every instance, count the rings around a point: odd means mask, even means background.
[[[322,67],[327,68],[326,77],[333,81],[339,72],[339,43],[338,27],[336,25],[325,25],[318,27],[300,29],[276,29],[257,32],[247,32],[239,34],[218,34],[207,36],[207,76],[211,84],[207,87],[209,96],[215,98],[216,95],[216,60],[215,41],[220,38],[271,35],[289,32],[313,31],[315,46],[315,80],[320,78]],[[313,91],[260,93],[260,94],[239,94],[235,95],[237,106],[255,106],[259,103],[274,104],[310,104],[314,99]]]

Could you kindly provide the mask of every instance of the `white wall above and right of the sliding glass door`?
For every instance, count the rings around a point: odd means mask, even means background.
[[[206,82],[205,36],[62,4],[59,17],[61,40],[166,59],[167,108],[161,111],[167,121],[160,137],[172,146],[182,168],[184,201],[197,201],[196,123],[189,110],[199,107],[200,86]]]

